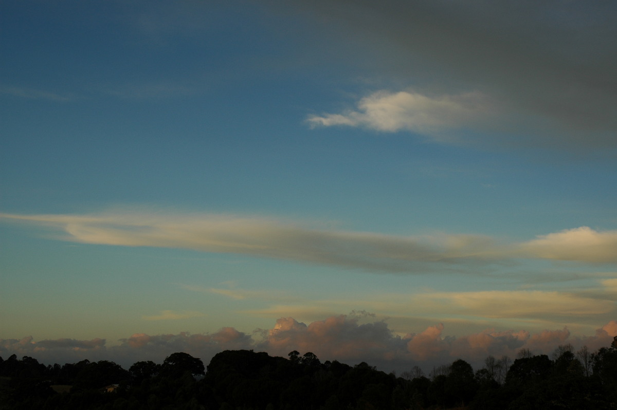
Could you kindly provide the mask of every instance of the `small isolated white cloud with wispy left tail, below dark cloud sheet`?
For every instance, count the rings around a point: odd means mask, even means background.
[[[492,116],[492,105],[480,92],[428,97],[418,92],[378,91],[363,97],[358,110],[313,115],[313,126],[362,126],[378,131],[412,131],[441,139],[444,131],[465,128]]]

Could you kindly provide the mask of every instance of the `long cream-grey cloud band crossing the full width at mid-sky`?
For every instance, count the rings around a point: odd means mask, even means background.
[[[59,239],[85,244],[186,248],[382,271],[418,271],[436,264],[443,268],[511,258],[617,262],[617,231],[587,227],[508,244],[471,234],[394,236],[207,213],[0,214],[0,218],[60,229],[65,235]]]

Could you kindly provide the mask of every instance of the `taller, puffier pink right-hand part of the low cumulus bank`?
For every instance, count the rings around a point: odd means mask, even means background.
[[[291,350],[312,351],[322,360],[337,359],[352,364],[366,361],[381,369],[398,366],[408,370],[415,364],[431,369],[458,358],[479,366],[488,355],[515,358],[523,348],[529,348],[534,354],[550,354],[563,343],[572,343],[576,348],[586,344],[597,350],[610,345],[612,340],[602,329],[592,337],[573,337],[566,328],[537,334],[487,329],[460,337],[444,336],[444,331],[444,324],[439,323],[417,334],[400,336],[385,321],[360,323],[354,316],[331,316],[308,325],[294,318],[281,318],[257,346],[280,356],[286,356]]]

